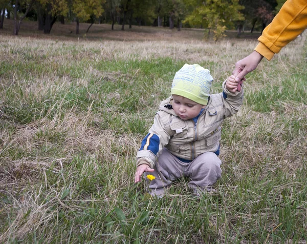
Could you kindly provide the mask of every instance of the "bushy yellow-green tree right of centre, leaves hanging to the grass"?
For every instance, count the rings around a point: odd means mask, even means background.
[[[244,7],[239,5],[238,1],[191,0],[189,4],[194,7],[194,10],[186,17],[184,22],[208,28],[208,36],[210,30],[213,30],[213,39],[217,40],[225,36],[225,30],[233,27],[234,22],[244,20],[243,14],[240,13],[240,10]]]

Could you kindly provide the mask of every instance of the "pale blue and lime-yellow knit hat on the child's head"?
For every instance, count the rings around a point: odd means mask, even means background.
[[[212,80],[209,70],[200,65],[185,64],[174,76],[171,95],[183,96],[201,105],[206,105]]]

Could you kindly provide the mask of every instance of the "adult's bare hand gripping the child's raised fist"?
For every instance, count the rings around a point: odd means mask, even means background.
[[[238,82],[238,91],[241,90],[240,85],[242,83],[240,83],[240,80],[243,80],[245,75],[255,70],[263,57],[264,56],[262,56],[260,53],[253,51],[250,55],[239,60],[235,64],[235,69],[232,74],[235,76],[235,81]]]

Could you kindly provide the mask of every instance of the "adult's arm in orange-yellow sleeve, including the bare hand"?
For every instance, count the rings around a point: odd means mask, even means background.
[[[307,1],[288,0],[258,38],[259,44],[254,52],[235,64],[232,74],[236,81],[255,70],[263,57],[271,60],[275,53],[295,39],[306,27]]]

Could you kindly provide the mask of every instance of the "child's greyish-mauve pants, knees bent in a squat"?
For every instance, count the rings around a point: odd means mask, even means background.
[[[190,177],[189,187],[208,188],[221,177],[222,161],[213,152],[206,152],[189,163],[180,161],[176,156],[164,149],[156,162],[155,171],[145,173],[156,176],[150,181],[150,189],[167,188],[172,181],[180,177]]]

